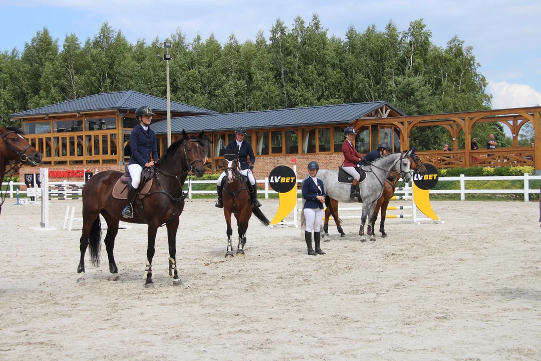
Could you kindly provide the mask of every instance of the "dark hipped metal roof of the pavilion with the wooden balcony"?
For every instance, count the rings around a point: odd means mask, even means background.
[[[135,110],[142,105],[149,106],[152,110],[167,111],[167,100],[138,91],[115,91],[113,93],[101,93],[85,96],[79,99],[69,100],[50,106],[21,111],[11,114],[10,117],[24,117],[32,115],[49,115],[62,113],[82,113],[96,110]],[[171,101],[171,111],[179,113],[214,114],[216,111],[187,104]]]

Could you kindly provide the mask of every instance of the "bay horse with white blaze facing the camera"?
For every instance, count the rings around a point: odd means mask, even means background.
[[[226,184],[222,188],[223,215],[225,215],[227,223],[226,258],[233,258],[231,214],[235,215],[237,232],[239,233],[239,244],[237,245],[236,254],[243,257],[244,246],[246,245],[246,231],[252,213],[265,226],[268,226],[271,221],[261,212],[260,208],[254,208],[247,188],[247,182],[249,180],[239,171],[239,161],[237,160],[236,152],[223,155],[223,169],[226,172],[226,177],[224,178]]]

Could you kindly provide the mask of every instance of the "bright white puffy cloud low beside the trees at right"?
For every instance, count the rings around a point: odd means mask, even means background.
[[[527,84],[489,82],[493,109],[535,107],[541,104],[541,93]]]

